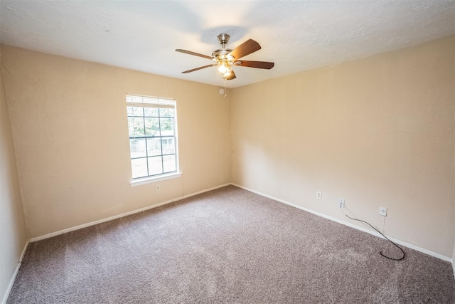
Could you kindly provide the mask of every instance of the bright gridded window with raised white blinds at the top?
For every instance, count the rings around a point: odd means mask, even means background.
[[[127,95],[127,115],[133,181],[177,173],[176,101]]]

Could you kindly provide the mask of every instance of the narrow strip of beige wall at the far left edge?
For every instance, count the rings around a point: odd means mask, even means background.
[[[28,241],[18,184],[16,157],[9,123],[8,105],[0,67],[0,301]],[[3,303],[3,302],[2,302]]]

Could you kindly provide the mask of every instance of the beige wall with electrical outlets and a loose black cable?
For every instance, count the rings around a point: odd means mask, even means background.
[[[231,182],[451,258],[454,70],[451,36],[235,88]]]

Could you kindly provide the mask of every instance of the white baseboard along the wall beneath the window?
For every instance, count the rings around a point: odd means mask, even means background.
[[[79,229],[86,228],[86,227],[89,227],[89,226],[93,226],[93,225],[96,225],[96,224],[101,224],[101,223],[104,223],[105,221],[112,221],[113,219],[119,219],[121,217],[129,216],[131,214],[137,214],[137,213],[142,212],[142,211],[153,209],[153,208],[156,208],[156,207],[159,207],[159,206],[163,206],[163,205],[166,205],[166,204],[171,204],[174,201],[179,201],[181,199],[186,199],[187,197],[190,197],[190,196],[195,196],[197,194],[201,194],[201,193],[204,193],[204,192],[209,192],[209,191],[212,191],[212,190],[215,190],[215,189],[218,189],[218,188],[221,188],[221,187],[226,187],[226,186],[229,186],[229,185],[230,184],[222,184],[222,185],[217,186],[217,187],[212,187],[212,188],[205,189],[205,190],[202,190],[202,191],[199,191],[199,192],[194,192],[194,193],[191,193],[191,194],[186,194],[186,195],[183,195],[183,196],[179,196],[179,197],[177,197],[175,199],[170,199],[168,201],[163,201],[161,203],[154,204],[154,205],[151,205],[151,206],[146,206],[144,208],[135,209],[135,210],[124,212],[122,214],[117,214],[117,215],[114,215],[114,216],[109,216],[109,217],[107,217],[105,219],[99,219],[97,221],[91,221],[90,223],[87,223],[87,224],[82,224],[82,225],[70,227],[70,228],[67,228],[67,229],[63,229],[63,230],[60,230],[60,231],[55,231],[55,232],[53,232],[51,234],[45,234],[43,236],[36,236],[34,238],[31,238],[30,241],[31,242],[41,241],[43,239],[48,239],[48,238],[51,238],[53,236],[58,236],[60,234],[66,234],[66,233],[68,233],[70,231],[75,231],[75,230],[79,230]]]

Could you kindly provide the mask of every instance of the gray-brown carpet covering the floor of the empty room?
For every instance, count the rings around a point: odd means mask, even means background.
[[[30,243],[7,303],[455,303],[451,264],[229,186]]]

